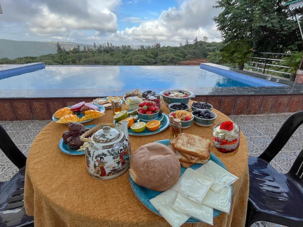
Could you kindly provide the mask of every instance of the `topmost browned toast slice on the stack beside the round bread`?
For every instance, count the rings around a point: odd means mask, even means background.
[[[208,160],[210,158],[210,141],[205,137],[181,133],[177,139],[174,146],[176,150],[200,159]]]

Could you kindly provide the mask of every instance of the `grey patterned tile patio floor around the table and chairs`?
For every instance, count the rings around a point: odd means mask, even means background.
[[[268,146],[289,115],[245,115],[231,116],[230,118],[240,125],[245,134],[249,155],[258,156]],[[32,141],[49,122],[50,120],[0,121],[0,124],[27,156]],[[303,148],[302,139],[303,125],[297,129],[283,150],[272,160],[271,165],[282,173],[288,172]],[[4,153],[0,151],[0,181],[9,180],[17,171],[17,167],[13,166]],[[268,222],[256,222],[254,225],[254,227],[280,227],[280,225]]]

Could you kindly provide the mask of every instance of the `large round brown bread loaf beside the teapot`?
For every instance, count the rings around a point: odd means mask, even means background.
[[[177,155],[161,143],[139,147],[131,157],[129,174],[140,186],[165,191],[177,183],[181,166]]]

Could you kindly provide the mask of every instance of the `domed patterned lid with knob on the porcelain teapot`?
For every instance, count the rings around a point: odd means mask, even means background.
[[[109,126],[104,126],[94,134],[92,139],[97,143],[112,143],[118,140],[120,136],[120,131]]]

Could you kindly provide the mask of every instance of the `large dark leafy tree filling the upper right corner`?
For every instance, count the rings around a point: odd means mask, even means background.
[[[223,11],[213,20],[225,43],[248,41],[255,51],[303,50],[298,24],[288,0],[218,0]]]

